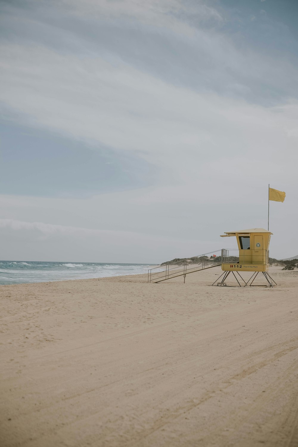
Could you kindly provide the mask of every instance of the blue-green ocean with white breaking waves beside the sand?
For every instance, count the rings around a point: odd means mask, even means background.
[[[149,264],[0,261],[0,284],[40,283],[147,273]]]

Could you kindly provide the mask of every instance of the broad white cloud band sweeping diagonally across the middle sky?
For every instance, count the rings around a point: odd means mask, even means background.
[[[197,174],[211,171],[221,176],[222,169],[247,157],[245,151],[251,157],[242,174],[252,172],[252,156],[274,164],[281,146],[296,157],[294,101],[278,109],[222,101],[215,93],[177,87],[126,64],[98,57],[85,58],[83,67],[75,56],[42,47],[5,45],[1,53],[0,97],[23,113],[24,122],[84,139],[94,148],[101,143],[143,156],[161,169],[159,185],[174,178],[178,184],[196,183],[202,178]]]

